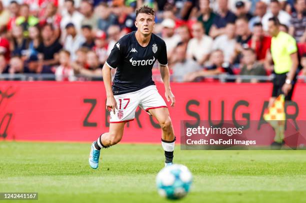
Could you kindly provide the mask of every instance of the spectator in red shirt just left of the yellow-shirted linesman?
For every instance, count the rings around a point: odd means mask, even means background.
[[[256,60],[263,62],[271,46],[271,37],[264,35],[261,22],[255,23],[253,29],[253,35],[247,44],[255,51]]]

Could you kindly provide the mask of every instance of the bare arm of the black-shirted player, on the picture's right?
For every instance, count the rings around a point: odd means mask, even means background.
[[[174,95],[171,91],[171,88],[170,88],[170,74],[169,74],[168,65],[159,64],[159,72],[160,72],[161,79],[162,79],[163,84],[164,84],[164,89],[165,89],[164,96],[165,96],[167,101],[171,100],[171,105],[170,106],[173,108],[174,105],[175,105],[175,97],[174,97]]]

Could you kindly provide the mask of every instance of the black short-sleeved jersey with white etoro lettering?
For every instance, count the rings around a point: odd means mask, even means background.
[[[121,37],[106,60],[110,68],[117,68],[112,82],[113,95],[154,85],[152,67],[156,60],[161,65],[168,63],[166,45],[159,36],[152,33],[145,47],[136,40],[135,31]]]

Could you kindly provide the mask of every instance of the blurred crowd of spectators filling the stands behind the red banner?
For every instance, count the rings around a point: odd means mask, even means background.
[[[101,79],[115,42],[136,30],[134,10],[143,4],[155,9],[153,32],[166,43],[172,81],[271,74],[272,16],[296,40],[306,75],[305,0],[0,0],[0,74]]]

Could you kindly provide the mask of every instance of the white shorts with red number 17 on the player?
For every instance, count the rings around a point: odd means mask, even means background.
[[[135,92],[114,95],[118,109],[115,114],[110,112],[109,123],[122,123],[132,121],[139,106],[144,111],[166,107],[166,103],[158,93],[155,85],[147,86]]]

